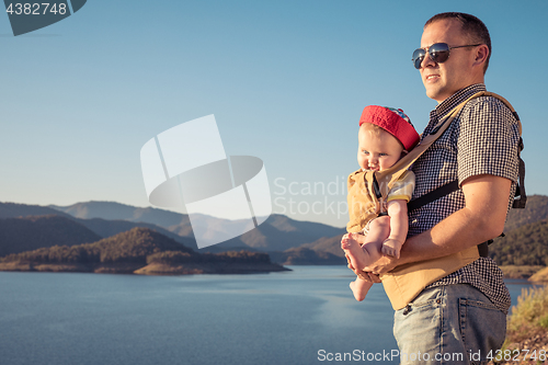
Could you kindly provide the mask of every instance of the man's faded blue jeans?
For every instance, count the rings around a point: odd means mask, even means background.
[[[506,316],[468,284],[423,290],[393,316],[401,365],[487,364],[506,338]]]

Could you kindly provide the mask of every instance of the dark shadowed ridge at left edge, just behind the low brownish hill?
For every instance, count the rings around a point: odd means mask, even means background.
[[[58,215],[0,219],[0,256],[56,244],[94,242],[101,238],[72,219]]]

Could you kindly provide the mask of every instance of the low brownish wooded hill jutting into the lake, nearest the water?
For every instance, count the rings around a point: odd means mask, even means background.
[[[134,228],[93,243],[10,254],[0,259],[0,270],[196,274],[285,269],[271,263],[265,253],[201,254],[148,228]]]

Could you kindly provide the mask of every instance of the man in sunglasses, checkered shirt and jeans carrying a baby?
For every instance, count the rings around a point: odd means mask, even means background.
[[[413,62],[426,95],[438,105],[423,136],[456,105],[486,90],[490,54],[489,32],[476,16],[443,13],[426,22]],[[425,260],[441,262],[498,237],[515,192],[518,139],[517,122],[502,102],[491,96],[468,102],[413,166],[413,197],[456,179],[460,190],[411,212],[400,259],[384,256],[367,271],[420,271]],[[396,311],[401,364],[484,364],[495,355],[505,339],[510,295],[494,262],[476,258],[424,283]],[[383,281],[391,273],[381,275]]]

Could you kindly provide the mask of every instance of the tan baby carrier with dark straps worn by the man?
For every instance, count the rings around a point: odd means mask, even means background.
[[[364,182],[367,189],[363,190],[364,194],[367,194],[366,198],[370,204],[368,204],[368,214],[376,216],[380,212],[383,202],[386,199],[388,192],[392,189],[393,184],[400,179],[400,176],[406,173],[406,171],[413,164],[413,162],[430,147],[432,144],[444,134],[447,127],[452,124],[453,119],[459,114],[463,107],[470,100],[479,96],[492,96],[501,100],[512,112],[515,119],[517,121],[520,130],[520,148],[517,151],[518,157],[518,174],[520,181],[515,192],[515,198],[513,203],[514,208],[524,208],[526,203],[525,194],[525,163],[521,158],[521,151],[523,150],[523,139],[522,135],[522,124],[517,113],[514,111],[512,105],[502,96],[487,91],[478,92],[471,95],[469,99],[465,100],[463,103],[457,105],[447,117],[443,118],[430,133],[425,136],[421,142],[413,148],[407,156],[401,158],[395,166],[384,171],[367,171],[364,174]],[[352,175],[351,175],[352,176]],[[350,179],[350,176],[349,176]],[[349,181],[350,182],[350,181]],[[449,182],[425,195],[420,196],[408,203],[408,210],[414,210],[423,205],[426,205],[435,199],[445,196],[456,190],[458,190],[458,181]],[[349,194],[349,209],[351,196]],[[406,265],[397,266],[391,272],[381,275],[383,285],[385,290],[392,304],[395,309],[401,309],[407,306],[419,293],[422,292],[424,287],[431,283],[459,270],[460,267],[476,261],[480,255],[487,256],[488,244],[490,242],[483,242],[477,248],[472,247],[470,249],[457,252],[444,258],[435,260],[425,260],[419,263],[411,263]]]

